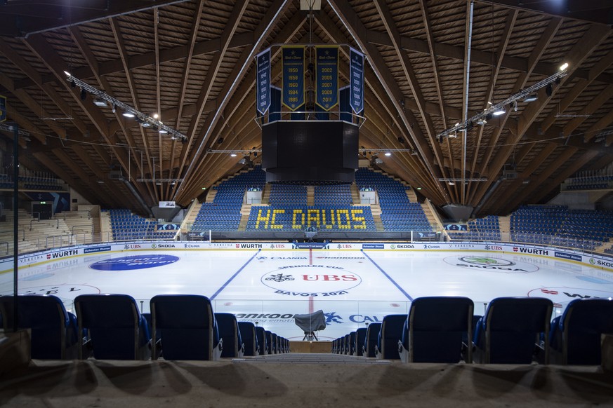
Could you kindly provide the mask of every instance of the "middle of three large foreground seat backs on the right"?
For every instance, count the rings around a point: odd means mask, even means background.
[[[553,303],[538,297],[499,297],[487,306],[475,327],[477,362],[529,364],[540,351],[541,336],[549,332]],[[548,364],[545,336],[543,362]]]

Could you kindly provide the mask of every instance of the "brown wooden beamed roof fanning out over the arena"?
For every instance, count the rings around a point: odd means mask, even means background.
[[[580,170],[613,161],[613,5],[520,3],[330,0],[310,18],[297,0],[10,0],[0,6],[0,94],[8,97],[9,120],[30,133],[20,138],[27,168],[55,173],[105,208],[146,213],[160,200],[187,206],[203,187],[239,170],[238,158],[211,150],[261,148],[257,53],[272,46],[277,84],[279,44],[343,44],[344,85],[349,45],[367,58],[360,129],[367,158],[369,150],[406,149],[382,157],[379,167],[420,187],[435,205],[506,214],[551,198]],[[466,144],[463,137],[437,140],[487,102],[555,74],[562,62],[568,75],[551,95],[541,89],[536,102],[475,126]],[[81,100],[65,71],[159,114],[187,142],[96,107],[91,95]],[[8,146],[13,134],[1,138]],[[505,165],[517,179],[503,179]],[[124,181],[108,177],[118,170]],[[138,181],[153,178],[183,182]],[[440,181],[449,178],[487,181]]]

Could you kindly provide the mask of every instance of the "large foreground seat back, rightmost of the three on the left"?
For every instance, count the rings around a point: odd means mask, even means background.
[[[150,308],[152,332],[154,336],[160,334],[164,360],[220,358],[222,341],[209,298],[197,294],[159,294],[152,297]],[[153,355],[155,358],[156,354]]]

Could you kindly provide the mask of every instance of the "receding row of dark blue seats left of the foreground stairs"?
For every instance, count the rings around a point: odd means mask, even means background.
[[[218,360],[289,353],[287,339],[237,322],[232,313],[213,313],[202,295],[157,295],[150,309],[140,313],[126,294],[86,294],[74,299],[75,316],[58,297],[19,295],[18,328],[31,330],[32,358],[38,359]],[[5,330],[14,325],[14,311],[14,297],[1,296]]]

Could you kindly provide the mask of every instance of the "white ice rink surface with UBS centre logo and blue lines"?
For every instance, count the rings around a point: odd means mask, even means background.
[[[0,275],[0,293],[13,274]],[[412,299],[466,296],[482,314],[495,297],[547,297],[561,313],[580,297],[613,297],[613,273],[573,261],[508,252],[385,250],[143,250],[77,255],[19,268],[18,292],[124,293],[143,312],[156,294],[204,294],[216,312],[235,313],[291,340],[296,313],[322,309],[320,340],[407,313]]]

